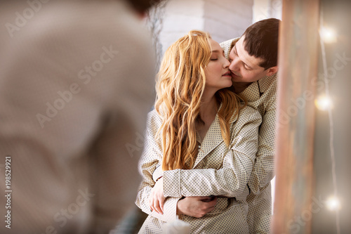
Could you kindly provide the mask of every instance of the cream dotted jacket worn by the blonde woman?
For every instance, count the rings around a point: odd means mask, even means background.
[[[180,215],[190,223],[191,233],[249,233],[247,223],[249,178],[258,149],[258,127],[261,117],[257,110],[245,107],[230,124],[229,147],[223,141],[218,116],[201,142],[193,169],[164,171],[164,215],[150,211],[149,195],[154,186],[152,178],[161,164],[161,141],[155,135],[161,118],[155,110],[147,120],[145,148],[139,169],[143,175],[136,204],[149,214],[140,233],[161,233],[164,223],[176,219],[176,205],[185,196],[218,197],[215,209],[200,219]],[[199,138],[198,138],[199,139]],[[155,176],[154,176],[155,177]]]

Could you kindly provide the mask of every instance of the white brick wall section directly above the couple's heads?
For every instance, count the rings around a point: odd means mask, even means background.
[[[240,37],[253,19],[253,0],[169,0],[159,35],[162,51],[190,30],[209,32],[218,42]]]

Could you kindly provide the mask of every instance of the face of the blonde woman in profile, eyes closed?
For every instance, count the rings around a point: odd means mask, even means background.
[[[225,58],[224,51],[217,41],[211,39],[212,54],[208,63],[206,75],[206,89],[223,89],[232,86],[230,62]]]

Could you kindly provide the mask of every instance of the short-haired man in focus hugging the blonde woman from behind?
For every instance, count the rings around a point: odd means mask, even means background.
[[[248,27],[241,37],[220,44],[230,60],[232,90],[246,98],[247,105],[262,115],[258,152],[248,183],[251,193],[246,198],[250,233],[270,233],[279,22],[274,18],[260,20]],[[178,204],[178,209],[190,216],[206,214],[213,209],[213,204],[201,202],[201,199],[203,197],[186,197]]]

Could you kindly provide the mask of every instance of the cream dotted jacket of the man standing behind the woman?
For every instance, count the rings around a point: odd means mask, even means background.
[[[239,38],[230,39],[220,44],[225,51],[226,58],[229,58],[232,45],[238,40]],[[246,200],[249,204],[249,230],[250,233],[270,233],[272,216],[270,181],[274,177],[277,74],[253,82],[240,94],[248,100],[248,105],[258,110],[262,116],[258,152],[249,180],[251,194]]]

